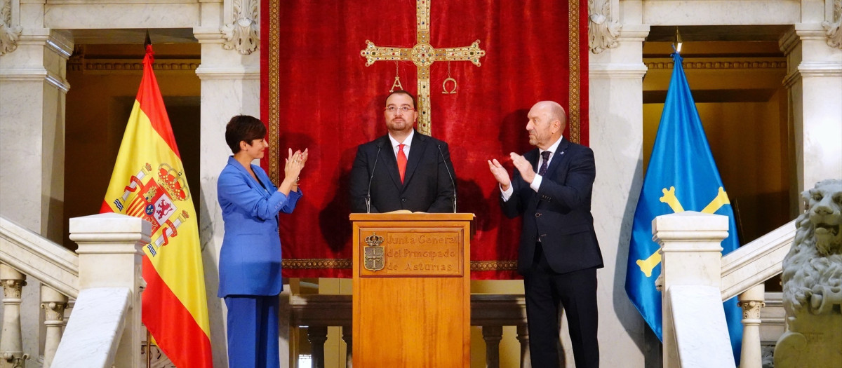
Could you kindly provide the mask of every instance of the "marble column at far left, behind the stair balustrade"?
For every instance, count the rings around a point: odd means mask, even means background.
[[[43,4],[20,4],[21,12]],[[64,210],[65,79],[73,47],[66,34],[23,18],[13,48],[0,55],[0,216],[61,243]],[[4,45],[8,46],[8,45]],[[40,282],[24,289],[24,351],[39,355]]]

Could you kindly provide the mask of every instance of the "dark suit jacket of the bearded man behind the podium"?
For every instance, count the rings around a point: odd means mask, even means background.
[[[365,213],[365,197],[372,171],[371,213],[398,209],[428,213],[453,212],[452,198],[456,187],[454,181],[450,180],[445,162],[453,180],[456,180],[447,144],[416,131],[412,145],[409,146],[407,171],[401,184],[395,151],[387,134],[360,145],[351,169],[351,212]]]

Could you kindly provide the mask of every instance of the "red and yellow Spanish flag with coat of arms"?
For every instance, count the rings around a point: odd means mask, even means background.
[[[100,213],[152,223],[143,247],[142,320],[179,368],[212,367],[205,274],[193,192],[152,73],[152,45]]]

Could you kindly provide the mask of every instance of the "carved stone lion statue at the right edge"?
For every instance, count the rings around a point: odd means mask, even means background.
[[[804,191],[805,211],[783,261],[786,332],[775,346],[775,368],[842,362],[842,180]]]

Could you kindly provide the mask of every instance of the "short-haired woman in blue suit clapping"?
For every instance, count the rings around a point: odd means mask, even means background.
[[[225,140],[234,155],[222,169],[216,191],[225,222],[219,257],[219,297],[228,308],[228,365],[274,368],[278,356],[280,237],[278,213],[292,213],[301,191],[298,176],[307,160],[289,150],[284,181],[275,187],[252,165],[264,156],[266,127],[246,115],[231,118]]]

